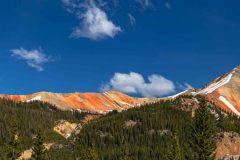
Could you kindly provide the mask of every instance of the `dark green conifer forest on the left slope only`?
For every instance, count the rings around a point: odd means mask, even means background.
[[[0,157],[5,155],[10,141],[13,143],[14,133],[18,133],[20,151],[34,145],[34,137],[38,128],[42,128],[44,142],[66,143],[66,140],[53,131],[59,120],[79,123],[85,114],[71,111],[61,111],[55,106],[39,102],[14,102],[0,99]]]

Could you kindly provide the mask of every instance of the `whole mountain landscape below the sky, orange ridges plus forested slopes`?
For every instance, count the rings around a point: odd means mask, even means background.
[[[182,159],[195,160],[198,151],[194,147],[202,143],[195,144],[199,136],[192,127],[201,129],[202,124],[206,125],[205,133],[212,133],[212,138],[207,135],[204,139],[216,144],[212,149],[207,148],[214,150],[216,159],[239,159],[239,98],[240,67],[203,88],[162,98],[136,98],[118,91],[2,94],[0,159],[6,153],[4,144],[14,135],[10,131],[15,121],[21,137],[19,159],[31,158],[37,128],[41,127],[51,159],[76,159],[95,153],[101,159],[168,160],[176,159],[171,157],[172,151],[176,151],[172,146],[179,146]],[[123,112],[111,112],[114,110]],[[199,118],[201,122],[197,121]]]

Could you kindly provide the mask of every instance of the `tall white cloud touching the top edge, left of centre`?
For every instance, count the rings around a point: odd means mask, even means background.
[[[62,0],[68,11],[76,14],[80,20],[79,26],[75,27],[71,36],[75,38],[85,37],[92,40],[114,38],[122,29],[108,19],[106,12],[96,6],[93,0],[86,3]],[[74,9],[76,9],[73,11]]]

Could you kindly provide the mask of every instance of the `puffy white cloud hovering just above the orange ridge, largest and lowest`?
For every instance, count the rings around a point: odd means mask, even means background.
[[[161,75],[148,76],[146,82],[139,73],[115,73],[101,91],[118,90],[124,93],[141,94],[144,97],[161,97],[175,92],[175,84]]]

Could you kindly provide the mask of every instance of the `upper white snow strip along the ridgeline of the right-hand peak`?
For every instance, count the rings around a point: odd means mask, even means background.
[[[227,75],[226,77],[224,77],[220,81],[215,82],[215,83],[209,85],[208,87],[204,88],[203,90],[199,91],[196,94],[209,94],[209,93],[212,93],[213,91],[215,91],[219,87],[227,84],[231,80],[231,78],[232,78],[232,73],[230,73],[229,75]]]

